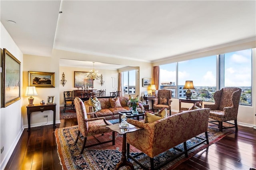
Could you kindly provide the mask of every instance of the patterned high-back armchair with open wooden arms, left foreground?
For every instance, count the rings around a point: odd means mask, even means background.
[[[96,146],[96,145],[104,144],[108,142],[112,142],[112,145],[115,145],[115,132],[110,130],[110,128],[106,128],[106,125],[112,125],[112,123],[106,121],[104,117],[88,119],[84,102],[79,97],[76,97],[74,100],[74,103],[76,107],[76,116],[77,116],[77,122],[78,122],[78,134],[76,137],[76,142],[79,139],[83,143],[80,154],[84,152],[84,148],[88,148],[91,146]],[[98,142],[96,144],[85,146],[88,136],[94,136],[96,138],[95,135],[104,134],[107,132],[112,132],[112,140]],[[82,139],[80,138],[80,133],[82,133],[82,135],[84,136],[84,141],[82,141]],[[96,140],[98,140],[98,138],[96,138]]]

